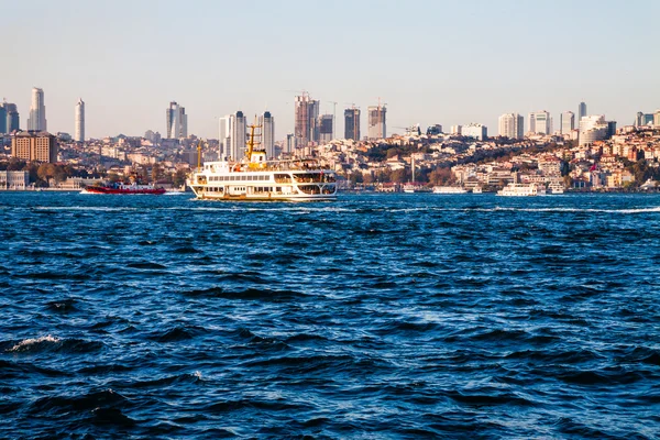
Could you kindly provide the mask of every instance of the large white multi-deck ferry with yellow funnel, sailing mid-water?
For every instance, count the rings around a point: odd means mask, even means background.
[[[255,148],[250,125],[245,158],[240,162],[207,162],[188,178],[198,199],[315,201],[337,199],[337,175],[316,161],[267,161],[264,150]],[[198,154],[201,152],[199,144]]]

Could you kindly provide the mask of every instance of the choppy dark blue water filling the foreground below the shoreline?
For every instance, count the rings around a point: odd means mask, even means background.
[[[0,438],[659,438],[660,196],[4,193],[0,238]]]

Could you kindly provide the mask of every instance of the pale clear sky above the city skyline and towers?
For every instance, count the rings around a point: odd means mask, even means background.
[[[26,128],[44,90],[48,131],[87,138],[165,133],[169,101],[188,133],[218,138],[218,117],[270,110],[294,129],[301,90],[333,113],[387,107],[387,132],[548,110],[618,125],[660,109],[659,1],[608,0],[0,0],[0,98]]]

